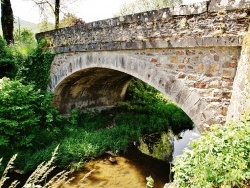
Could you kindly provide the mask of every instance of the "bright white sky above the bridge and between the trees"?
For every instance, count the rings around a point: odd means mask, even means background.
[[[133,0],[77,0],[67,5],[68,12],[74,13],[85,22],[112,18],[124,3]],[[183,0],[183,4],[200,2],[202,0]],[[68,1],[70,2],[70,1]],[[14,16],[25,21],[39,23],[39,10],[30,0],[11,0]]]

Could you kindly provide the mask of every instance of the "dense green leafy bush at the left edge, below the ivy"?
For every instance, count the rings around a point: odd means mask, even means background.
[[[34,138],[30,131],[36,131],[39,122],[34,104],[41,95],[32,86],[7,78],[0,80],[0,88],[0,146],[29,146]]]

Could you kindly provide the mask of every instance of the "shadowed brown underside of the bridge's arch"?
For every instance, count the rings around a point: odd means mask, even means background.
[[[74,108],[112,106],[124,99],[132,78],[112,69],[83,69],[66,77],[56,87],[53,103],[62,114],[68,114]]]

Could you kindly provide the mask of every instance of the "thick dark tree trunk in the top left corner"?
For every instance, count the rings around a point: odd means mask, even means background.
[[[14,16],[10,0],[1,1],[1,11],[3,38],[7,41],[7,44],[12,44],[14,42]]]

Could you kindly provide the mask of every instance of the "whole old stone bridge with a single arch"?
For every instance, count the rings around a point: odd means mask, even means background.
[[[54,103],[62,113],[114,105],[136,77],[176,102],[199,130],[239,118],[248,102],[249,6],[211,0],[39,33],[57,54]]]

